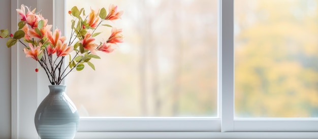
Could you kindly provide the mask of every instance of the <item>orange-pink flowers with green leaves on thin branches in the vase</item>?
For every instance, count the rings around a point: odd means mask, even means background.
[[[103,24],[108,20],[117,20],[123,14],[123,11],[117,11],[117,6],[112,4],[109,6],[108,13],[105,8],[90,9],[88,15],[85,15],[83,8],[73,7],[69,11],[69,15],[73,17],[69,42],[66,41],[65,36],[61,36],[59,29],[56,28],[52,32],[52,25],[48,24],[48,20],[35,11],[36,9],[30,11],[28,7],[21,5],[21,9],[17,9],[21,17],[21,21],[18,23],[19,29],[13,34],[9,34],[8,29],[2,29],[0,38],[9,38],[8,48],[17,42],[21,43],[24,46],[23,52],[26,57],[38,61],[52,85],[59,85],[74,69],[83,70],[84,64],[95,70],[90,59],[100,59],[97,55],[98,51],[110,53],[117,43],[122,43],[122,29]],[[112,27],[111,34],[107,41],[96,43],[94,37],[101,32],[95,31],[100,26]],[[75,55],[72,56],[70,54],[72,52]],[[69,63],[65,69],[62,69],[66,56],[69,56]],[[38,71],[39,69],[36,68],[36,72]]]

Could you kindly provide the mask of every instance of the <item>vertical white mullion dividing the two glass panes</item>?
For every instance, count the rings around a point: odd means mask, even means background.
[[[221,131],[234,131],[234,1],[219,0]]]

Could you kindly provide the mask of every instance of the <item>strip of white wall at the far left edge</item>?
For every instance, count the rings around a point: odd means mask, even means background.
[[[0,29],[11,28],[11,1],[0,2]],[[11,49],[0,38],[0,139],[11,138]]]

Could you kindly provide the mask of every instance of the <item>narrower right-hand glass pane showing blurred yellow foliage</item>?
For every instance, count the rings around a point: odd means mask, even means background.
[[[235,114],[318,117],[318,1],[235,1]]]

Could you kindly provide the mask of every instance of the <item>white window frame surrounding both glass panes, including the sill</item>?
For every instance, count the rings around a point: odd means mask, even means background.
[[[11,32],[17,30],[15,9],[21,4],[41,9],[53,27],[65,30],[65,1],[12,0]],[[234,0],[218,2],[219,118],[84,118],[75,138],[317,138],[316,118],[234,117]],[[32,72],[38,65],[25,58],[19,44],[11,50],[12,138],[37,138],[34,114],[48,93],[49,82],[44,73]]]

